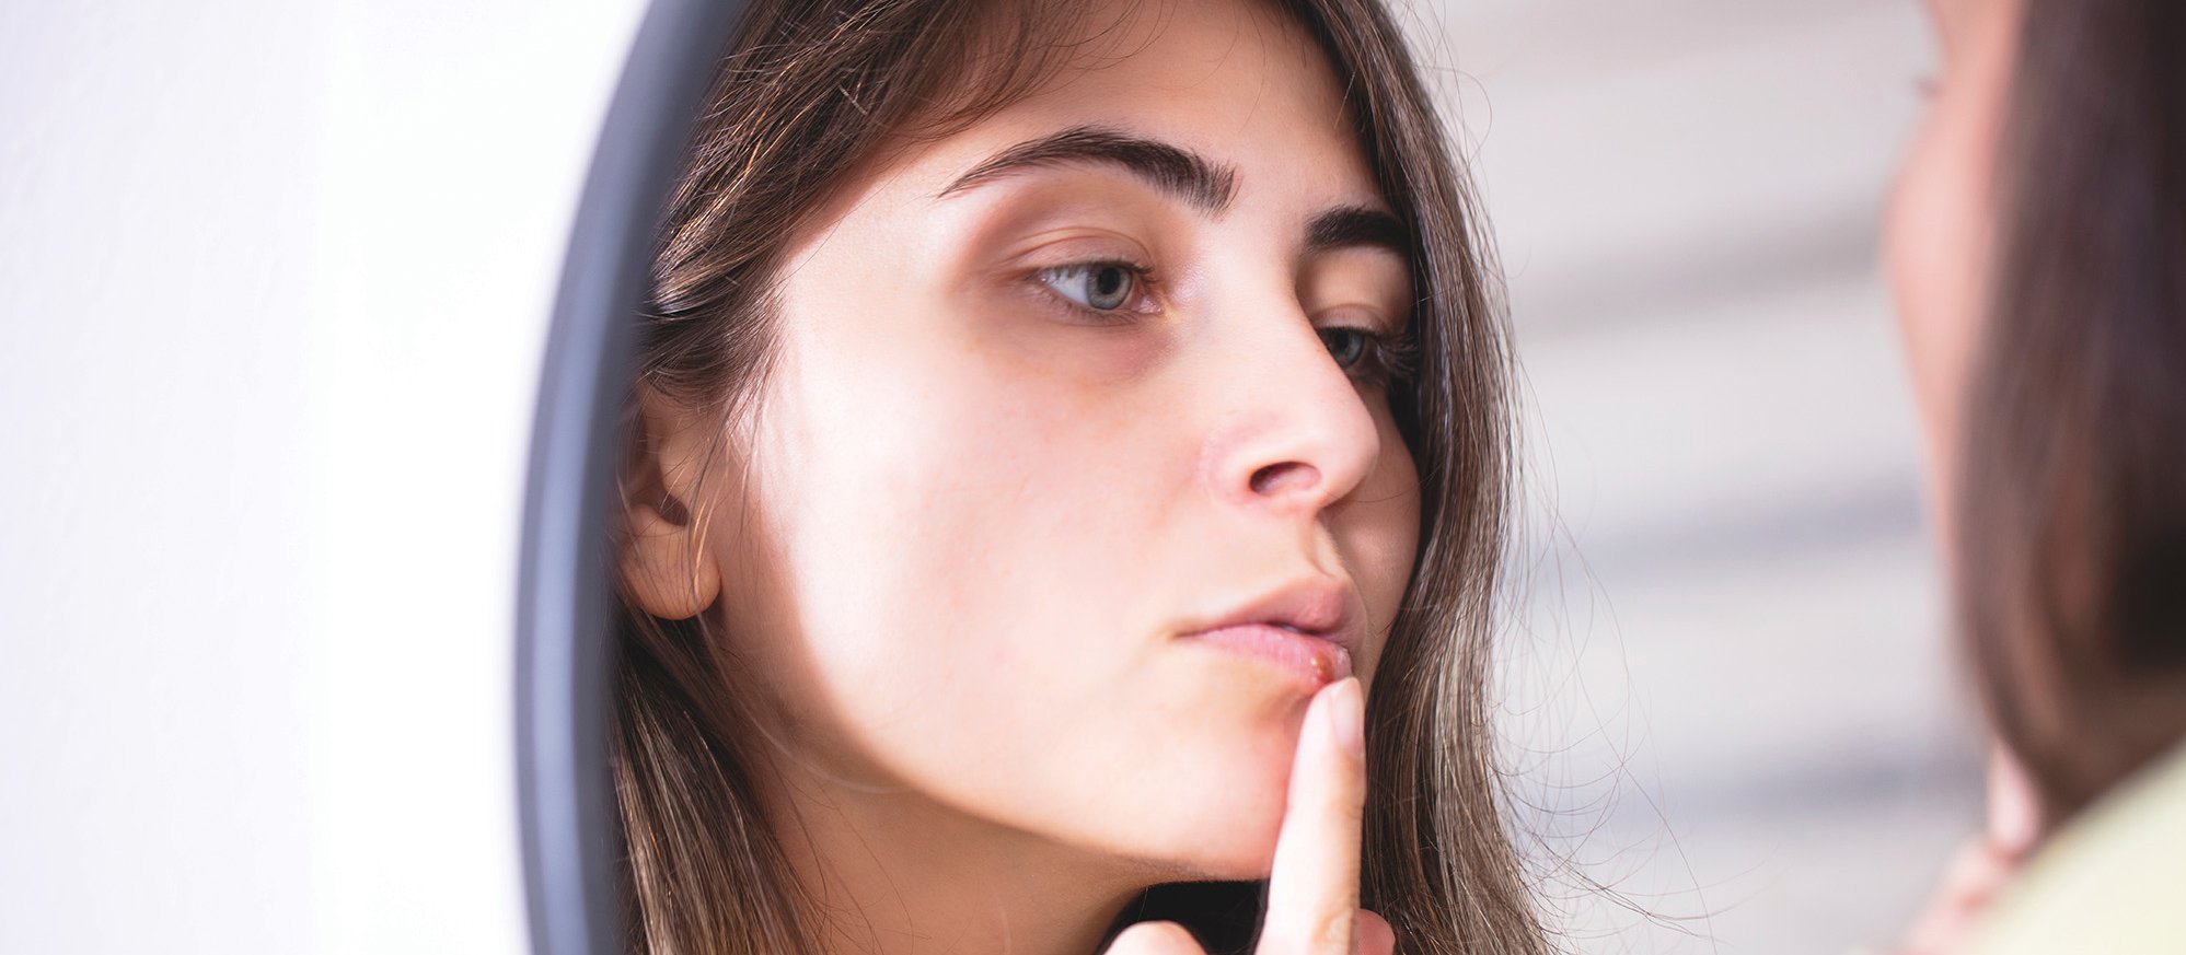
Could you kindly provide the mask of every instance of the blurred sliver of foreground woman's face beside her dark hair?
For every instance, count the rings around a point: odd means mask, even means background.
[[[1996,151],[2018,44],[2020,0],[1930,0],[1941,42],[1932,105],[1889,216],[1889,269],[1928,444],[1930,500],[1948,490],[1965,426],[1963,391],[1987,308],[1996,234]]]

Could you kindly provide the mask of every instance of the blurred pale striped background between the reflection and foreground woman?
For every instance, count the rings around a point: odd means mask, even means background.
[[[1880,269],[1911,0],[1419,0],[1526,376],[1513,798],[1585,953],[1887,948],[1981,820]]]

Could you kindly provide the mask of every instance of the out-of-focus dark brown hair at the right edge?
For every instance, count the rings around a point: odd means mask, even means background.
[[[2057,824],[2186,736],[2186,4],[2026,0],[2018,57],[1959,612]]]

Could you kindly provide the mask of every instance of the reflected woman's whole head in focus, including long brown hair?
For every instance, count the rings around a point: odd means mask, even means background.
[[[647,946],[794,948],[837,837],[1095,903],[1266,876],[1344,673],[1368,905],[1532,944],[1480,719],[1504,337],[1373,2],[759,2],[645,326]]]

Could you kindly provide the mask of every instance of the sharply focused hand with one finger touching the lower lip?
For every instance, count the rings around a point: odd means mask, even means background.
[[[1397,933],[1360,909],[1366,811],[1366,697],[1358,677],[1323,686],[1305,708],[1290,802],[1274,841],[1268,920],[1257,955],[1395,955]],[[1204,955],[1176,922],[1124,929],[1108,955]]]

